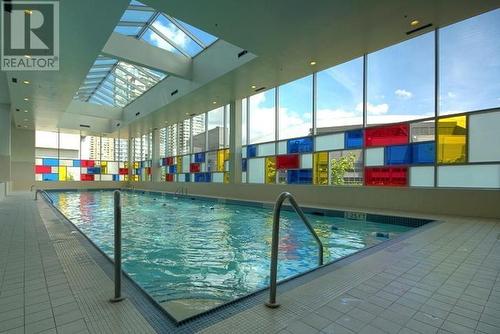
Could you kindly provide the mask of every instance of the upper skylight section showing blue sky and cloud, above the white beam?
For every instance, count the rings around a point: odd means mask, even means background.
[[[132,1],[115,32],[186,57],[194,57],[217,38],[165,13]]]

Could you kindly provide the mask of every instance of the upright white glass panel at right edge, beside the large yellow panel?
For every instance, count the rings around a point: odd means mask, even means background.
[[[470,116],[469,161],[500,161],[500,112]]]

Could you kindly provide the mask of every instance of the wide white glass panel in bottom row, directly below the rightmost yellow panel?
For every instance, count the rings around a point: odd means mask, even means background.
[[[440,166],[438,186],[500,188],[500,165]]]

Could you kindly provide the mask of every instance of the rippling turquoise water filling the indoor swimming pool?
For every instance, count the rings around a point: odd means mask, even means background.
[[[54,205],[113,257],[113,192],[50,192]],[[122,192],[123,269],[158,302],[230,301],[268,286],[272,209],[171,195]],[[325,263],[410,227],[308,215]],[[337,227],[333,230],[332,226]],[[317,246],[294,212],[283,211],[279,279],[317,266]]]

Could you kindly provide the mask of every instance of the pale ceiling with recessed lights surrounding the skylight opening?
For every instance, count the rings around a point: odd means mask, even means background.
[[[59,120],[128,2],[61,1],[61,70],[7,73],[11,109],[17,126],[60,126]],[[432,23],[433,27],[442,27],[500,7],[500,0],[142,2],[247,49],[257,57],[168,105],[145,112],[144,116],[127,124],[134,132],[148,130],[188,112],[207,111],[213,108],[214,96],[224,104],[252,94],[251,85],[273,87],[413,37],[406,34],[413,19],[418,19],[421,25]],[[426,31],[429,30],[422,32]],[[317,65],[310,66],[310,60],[315,60]],[[31,84],[13,84],[12,77],[30,80]],[[1,89],[4,81],[0,74],[0,99],[5,98]],[[141,98],[147,98],[148,93]],[[24,97],[29,101],[24,101]],[[20,112],[16,113],[15,108],[29,110],[29,121],[25,122],[25,114],[18,115]],[[78,115],[72,115],[75,117]],[[87,117],[86,121],[92,123],[92,117]],[[74,122],[75,127],[77,123]],[[68,123],[68,126],[72,125]]]

